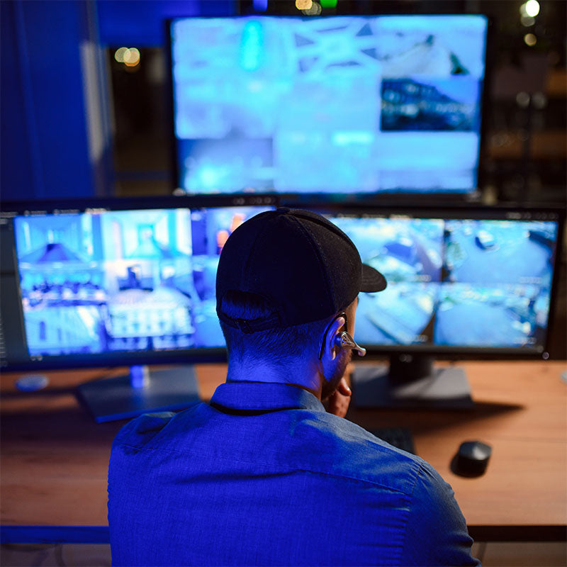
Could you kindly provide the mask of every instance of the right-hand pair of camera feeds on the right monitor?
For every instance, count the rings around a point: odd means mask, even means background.
[[[435,342],[541,345],[556,230],[545,221],[447,221]]]

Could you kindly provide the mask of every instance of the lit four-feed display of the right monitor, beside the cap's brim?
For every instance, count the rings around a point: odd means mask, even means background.
[[[330,219],[388,281],[359,295],[361,344],[543,352],[555,221]]]

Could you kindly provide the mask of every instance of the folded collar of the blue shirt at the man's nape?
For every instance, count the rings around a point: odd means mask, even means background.
[[[252,412],[276,410],[325,411],[312,393],[291,384],[271,382],[226,382],[210,398],[210,405],[220,409]]]

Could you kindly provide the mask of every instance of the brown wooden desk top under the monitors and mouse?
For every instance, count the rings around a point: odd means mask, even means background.
[[[351,409],[348,417],[367,429],[409,427],[417,454],[453,486],[475,539],[564,539],[567,384],[561,373],[567,364],[469,361],[461,366],[476,401],[470,412]],[[28,532],[26,541],[108,537],[106,471],[113,437],[124,422],[97,425],[77,403],[73,388],[124,371],[51,372],[50,385],[37,393],[17,391],[16,374],[1,376],[2,526],[44,527]],[[201,396],[208,399],[224,381],[225,366],[198,365],[196,371]],[[488,471],[479,478],[451,472],[451,458],[468,439],[493,446]],[[47,529],[62,526],[89,529]]]

